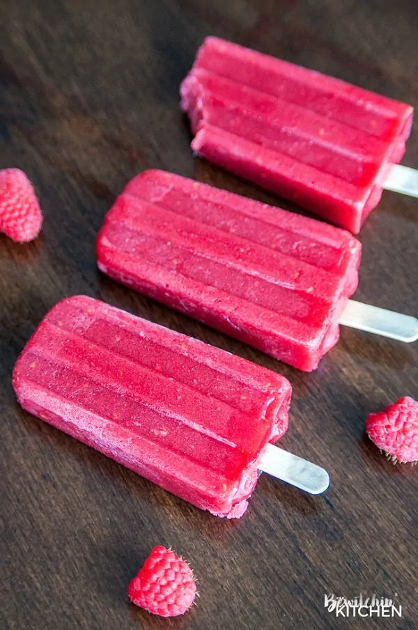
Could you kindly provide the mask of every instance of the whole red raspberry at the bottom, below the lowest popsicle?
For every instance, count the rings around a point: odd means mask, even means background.
[[[196,597],[196,582],[187,562],[163,546],[154,547],[127,587],[130,600],[161,617],[183,615]]]

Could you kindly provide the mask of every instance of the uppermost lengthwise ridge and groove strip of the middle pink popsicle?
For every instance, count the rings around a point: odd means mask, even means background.
[[[140,174],[122,196],[128,194],[324,270],[340,269],[348,252],[359,249],[339,228],[165,171]]]

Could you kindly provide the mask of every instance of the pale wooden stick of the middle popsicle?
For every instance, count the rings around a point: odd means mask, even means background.
[[[340,324],[410,344],[418,339],[418,319],[355,300],[348,300]]]

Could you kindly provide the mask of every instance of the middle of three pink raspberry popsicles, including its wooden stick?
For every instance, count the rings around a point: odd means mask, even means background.
[[[341,317],[376,326],[373,307],[348,303],[360,250],[339,228],[164,171],[127,184],[97,242],[118,282],[304,371],[334,346]],[[392,315],[396,328],[405,316]]]

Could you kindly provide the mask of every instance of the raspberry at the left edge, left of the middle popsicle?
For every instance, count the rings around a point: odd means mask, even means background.
[[[42,213],[29,179],[19,169],[0,171],[0,232],[17,243],[38,236]]]

